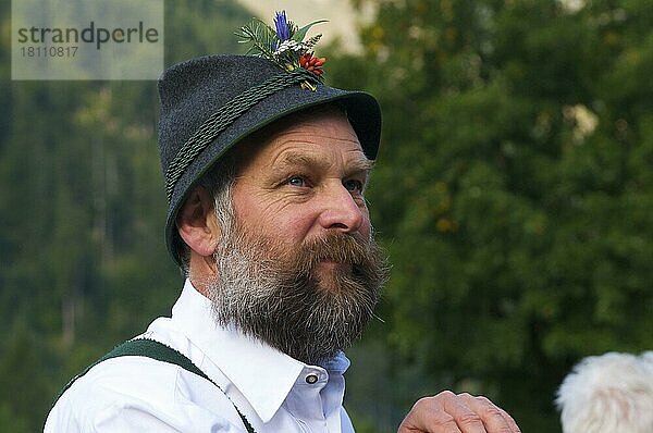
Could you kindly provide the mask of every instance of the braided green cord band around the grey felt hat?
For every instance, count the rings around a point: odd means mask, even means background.
[[[288,73],[274,75],[258,86],[248,88],[222,106],[220,110],[211,114],[195,134],[184,143],[184,146],[182,146],[180,151],[175,154],[165,171],[165,194],[168,196],[168,202],[170,203],[172,200],[174,187],[184,174],[184,171],[193,161],[195,161],[197,156],[215,139],[215,137],[226,129],[227,126],[270,95],[307,81],[318,83],[316,76],[303,67],[298,67]]]

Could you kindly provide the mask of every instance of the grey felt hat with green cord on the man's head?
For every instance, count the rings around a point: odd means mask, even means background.
[[[301,86],[310,82],[316,90]],[[381,110],[362,91],[321,84],[310,72],[286,72],[251,55],[207,55],[175,64],[159,79],[159,151],[168,195],[165,242],[181,264],[175,220],[211,165],[243,138],[294,112],[337,101],[365,154],[377,157]]]

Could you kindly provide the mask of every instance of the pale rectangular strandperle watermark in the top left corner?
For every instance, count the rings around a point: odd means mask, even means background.
[[[12,79],[157,79],[163,0],[13,0]]]

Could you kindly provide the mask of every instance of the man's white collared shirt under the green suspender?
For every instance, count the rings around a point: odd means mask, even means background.
[[[344,354],[323,367],[308,366],[220,327],[209,299],[188,281],[172,318],[155,320],[141,336],[184,354],[229,398],[175,364],[119,357],[73,383],[50,411],[45,432],[245,432],[233,404],[257,433],[354,432],[342,406],[349,367]]]

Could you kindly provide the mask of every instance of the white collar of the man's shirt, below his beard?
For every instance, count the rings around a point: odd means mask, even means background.
[[[235,327],[218,326],[211,301],[188,280],[172,309],[172,320],[238,388],[263,422],[272,419],[303,370],[310,367]],[[348,367],[343,352],[324,364],[330,373],[340,374]]]

